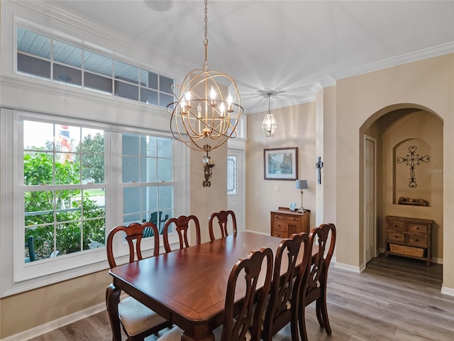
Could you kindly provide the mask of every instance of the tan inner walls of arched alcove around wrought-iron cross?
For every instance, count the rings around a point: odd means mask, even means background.
[[[360,155],[362,165],[360,183],[363,212],[362,251],[364,264],[370,260],[370,236],[375,237],[375,256],[386,249],[385,217],[388,215],[414,217],[433,220],[431,260],[441,263],[443,259],[443,120],[433,111],[417,104],[394,104],[385,107],[362,124],[360,128]],[[367,136],[367,138],[366,138]],[[367,173],[370,163],[370,144],[367,139],[375,140],[374,177]],[[416,141],[416,142],[414,142]],[[419,142],[418,142],[419,141]],[[411,187],[409,165],[397,165],[396,151],[405,144],[421,144],[430,154],[430,162],[414,166],[416,186]],[[369,146],[369,147],[368,147]],[[402,147],[399,147],[402,148]],[[405,147],[406,148],[406,147]],[[369,168],[370,169],[370,168]],[[408,173],[408,174],[407,174]],[[402,175],[403,174],[403,175]],[[368,183],[375,181],[375,184]],[[418,183],[419,181],[419,183]],[[414,185],[414,184],[413,184]],[[419,187],[418,187],[419,185]],[[370,202],[367,189],[375,190],[375,224],[370,222]],[[404,193],[404,194],[403,194]],[[422,194],[421,194],[422,193]],[[420,198],[427,205],[402,205],[399,197]],[[372,225],[372,230],[369,230]]]

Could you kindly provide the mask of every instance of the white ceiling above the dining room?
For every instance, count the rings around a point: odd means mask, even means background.
[[[204,62],[204,1],[50,0],[121,30],[184,70]],[[454,1],[208,3],[210,70],[236,80],[245,113],[313,99],[317,82],[454,52]],[[453,75],[454,77],[454,75]]]

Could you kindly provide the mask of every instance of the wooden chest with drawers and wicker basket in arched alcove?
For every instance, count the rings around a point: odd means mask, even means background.
[[[433,220],[386,217],[386,254],[423,259],[431,265],[431,229]]]

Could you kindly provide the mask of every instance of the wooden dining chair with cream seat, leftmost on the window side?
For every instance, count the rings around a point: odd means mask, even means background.
[[[139,224],[133,222],[128,226],[117,226],[111,229],[107,237],[106,251],[107,261],[109,261],[110,268],[117,266],[117,261],[114,256],[114,237],[118,232],[126,234],[126,242],[129,248],[129,263],[143,259],[141,241],[143,238],[144,229],[153,229],[154,238],[154,253],[153,256],[159,254],[159,234],[157,227],[152,222],[144,222]],[[114,340],[121,340],[121,327],[123,327],[128,340],[130,341],[143,341],[144,337],[153,335],[160,330],[171,327],[172,324],[162,318],[150,308],[142,303],[136,301],[132,297],[123,298],[120,301],[121,290],[115,288],[113,284],[106,288],[106,307],[109,311],[109,319],[111,323],[112,333],[116,335]],[[121,326],[121,327],[120,327]]]

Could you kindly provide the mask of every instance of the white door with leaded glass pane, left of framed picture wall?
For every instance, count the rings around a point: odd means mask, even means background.
[[[244,151],[227,151],[227,206],[235,212],[238,231],[244,231]]]

